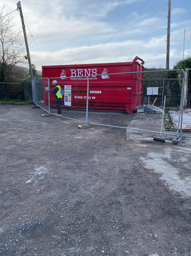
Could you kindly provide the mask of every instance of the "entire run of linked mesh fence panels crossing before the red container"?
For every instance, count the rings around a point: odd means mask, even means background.
[[[54,89],[53,80],[57,80],[62,89],[62,117],[89,124],[120,127],[146,132],[160,133],[148,127],[131,127],[129,122],[141,112],[147,121],[153,114],[161,114],[165,102],[165,132],[162,134],[178,135],[183,131],[183,106],[190,104],[190,70],[187,71],[188,86],[185,89],[184,71],[159,70],[144,72],[126,72],[115,74],[94,74],[63,78],[38,78],[33,91],[37,105],[45,111],[55,114],[55,97],[49,92]],[[34,87],[34,86],[33,86]],[[32,88],[33,88],[32,87]],[[36,91],[36,95],[35,95]],[[185,96],[185,92],[188,93]],[[154,103],[154,107],[152,106]],[[176,116],[176,118],[175,118]],[[176,119],[176,122],[174,120]],[[189,137],[189,135],[186,135]]]

